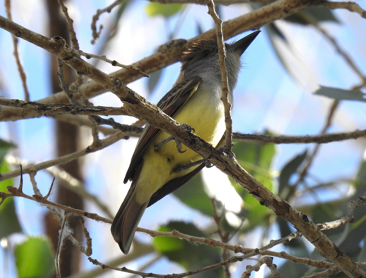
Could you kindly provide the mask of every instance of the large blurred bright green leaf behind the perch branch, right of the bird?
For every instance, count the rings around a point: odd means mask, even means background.
[[[266,133],[268,134],[268,133]],[[273,156],[276,153],[274,144],[259,145],[248,142],[234,142],[233,152],[235,153],[238,163],[245,168],[254,178],[261,184],[266,186],[272,192],[275,191],[273,186],[273,178],[270,173]],[[267,219],[272,215],[272,211],[259,204],[259,202],[246,192],[242,186],[236,186],[235,181],[231,179],[231,183],[235,186],[244,201],[245,216],[249,220],[249,225],[244,227],[245,230],[252,229],[260,223],[268,223]]]

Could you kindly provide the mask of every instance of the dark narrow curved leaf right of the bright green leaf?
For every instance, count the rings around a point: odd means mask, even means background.
[[[307,150],[301,153],[300,155],[296,155],[293,159],[291,159],[282,169],[280,177],[279,177],[279,196],[283,199],[288,198],[289,188],[290,188],[290,178],[292,174],[296,173],[299,166],[303,163],[307,155]]]

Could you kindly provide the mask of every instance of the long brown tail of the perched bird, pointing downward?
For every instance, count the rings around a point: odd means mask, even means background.
[[[147,207],[147,203],[139,205],[135,199],[135,186],[132,184],[121,207],[113,219],[111,232],[123,253],[130,251],[132,238],[137,225]]]

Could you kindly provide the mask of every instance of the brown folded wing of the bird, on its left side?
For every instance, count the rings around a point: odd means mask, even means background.
[[[168,116],[174,117],[183,104],[186,103],[186,101],[194,94],[201,81],[201,77],[193,77],[179,83],[165,94],[165,96],[157,103],[157,107],[163,110],[163,112]],[[149,123],[146,124],[137,142],[135,152],[132,155],[130,167],[128,167],[126,177],[123,181],[124,183],[133,179],[147,145],[159,133],[159,131],[160,129],[151,126]]]

